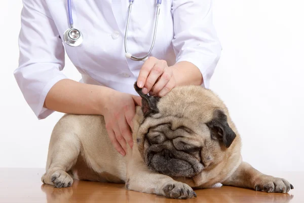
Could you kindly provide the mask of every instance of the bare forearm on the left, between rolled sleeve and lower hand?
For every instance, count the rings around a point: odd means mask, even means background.
[[[111,91],[115,90],[64,79],[50,89],[44,107],[68,114],[102,115],[102,107]]]

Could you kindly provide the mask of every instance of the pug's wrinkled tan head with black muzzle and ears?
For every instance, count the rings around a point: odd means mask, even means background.
[[[176,87],[162,98],[142,97],[137,131],[139,152],[150,170],[170,177],[191,178],[226,158],[236,138],[227,109],[210,90]]]

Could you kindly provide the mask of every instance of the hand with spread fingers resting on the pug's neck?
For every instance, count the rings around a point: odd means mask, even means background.
[[[105,127],[111,143],[123,156],[127,152],[127,144],[133,147],[133,117],[135,105],[141,106],[141,97],[113,90],[103,107]]]

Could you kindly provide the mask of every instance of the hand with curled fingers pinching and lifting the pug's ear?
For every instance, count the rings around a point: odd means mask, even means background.
[[[140,69],[137,86],[144,94],[165,96],[176,86],[173,68],[165,60],[149,57]]]

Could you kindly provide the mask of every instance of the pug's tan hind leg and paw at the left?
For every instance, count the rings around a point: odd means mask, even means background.
[[[46,173],[41,178],[43,183],[55,185],[58,188],[72,185],[73,179],[67,172],[77,162],[81,142],[71,131],[52,133]]]

